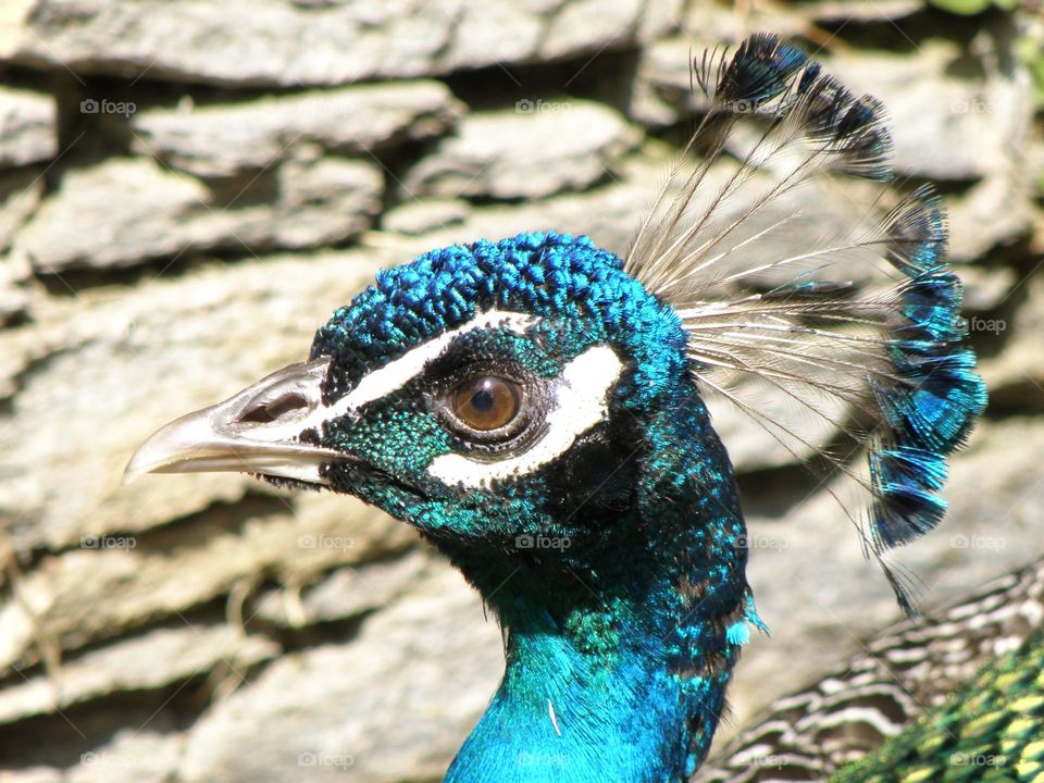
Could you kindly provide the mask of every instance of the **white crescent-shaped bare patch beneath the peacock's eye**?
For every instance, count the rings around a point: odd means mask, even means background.
[[[529,449],[498,462],[459,453],[442,455],[432,460],[428,474],[445,484],[476,488],[492,481],[532,473],[568,451],[576,438],[605,418],[609,391],[622,370],[623,362],[612,348],[588,348],[562,371],[562,384],[547,414],[547,430]]]

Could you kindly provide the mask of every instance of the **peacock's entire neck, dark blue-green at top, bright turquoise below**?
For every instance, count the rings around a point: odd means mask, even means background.
[[[646,432],[630,509],[574,521],[601,536],[582,545],[586,568],[577,552],[497,566],[448,552],[497,612],[507,664],[447,783],[676,783],[706,756],[759,622],[743,519],[698,400]]]

